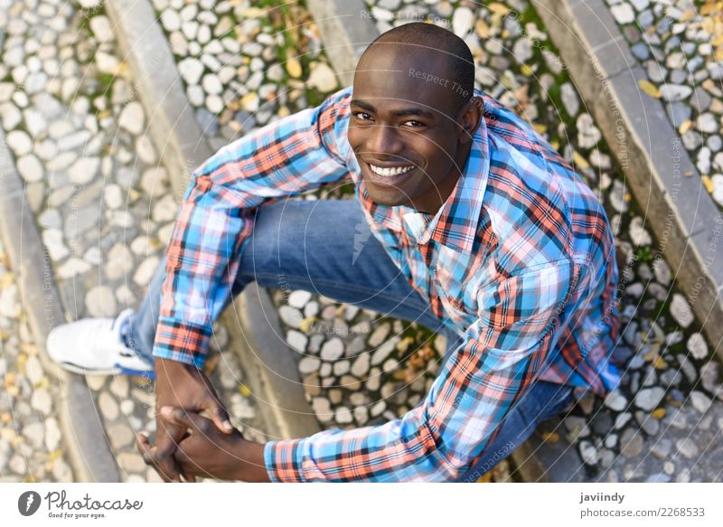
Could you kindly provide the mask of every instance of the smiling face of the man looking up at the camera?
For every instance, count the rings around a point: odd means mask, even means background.
[[[348,136],[372,201],[436,212],[454,189],[468,149],[461,147],[465,131],[455,121],[455,79],[444,58],[419,54],[394,52],[387,44],[362,57]]]

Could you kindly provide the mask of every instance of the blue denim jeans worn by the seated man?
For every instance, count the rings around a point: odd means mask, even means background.
[[[416,322],[446,334],[443,361],[461,343],[459,335],[434,315],[427,299],[409,285],[371,234],[358,202],[283,201],[259,207],[253,234],[239,258],[234,295],[253,280],[260,287],[284,284]],[[143,303],[129,319],[129,341],[136,353],[151,363],[164,276],[162,259]],[[540,421],[558,415],[571,399],[570,387],[536,381],[505,417],[500,433],[485,447],[480,461],[460,480],[490,470],[529,438]]]

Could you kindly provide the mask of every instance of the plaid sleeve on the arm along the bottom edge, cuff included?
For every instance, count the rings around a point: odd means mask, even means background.
[[[481,289],[478,319],[418,407],[378,427],[268,442],[271,480],[435,482],[464,475],[543,367],[571,274],[571,264],[556,262]]]

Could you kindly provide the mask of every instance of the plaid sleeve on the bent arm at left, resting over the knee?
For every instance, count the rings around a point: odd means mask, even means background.
[[[255,209],[350,178],[352,88],[241,137],[191,177],[166,249],[153,354],[202,367]]]

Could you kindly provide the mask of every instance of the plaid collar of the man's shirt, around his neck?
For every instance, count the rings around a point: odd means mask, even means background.
[[[480,94],[475,95],[484,102]],[[480,126],[474,133],[465,168],[454,190],[437,213],[432,216],[402,207],[404,221],[413,231],[418,231],[418,243],[435,240],[459,252],[472,251],[490,172],[489,153],[489,137],[483,115]]]

